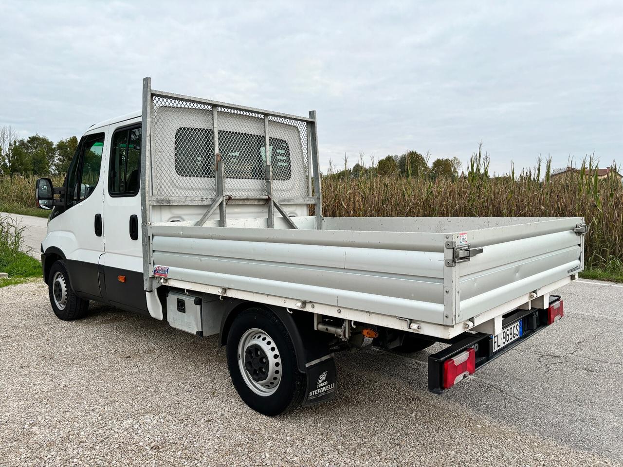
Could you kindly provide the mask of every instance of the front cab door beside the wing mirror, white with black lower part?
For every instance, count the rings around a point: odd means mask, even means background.
[[[65,204],[54,213],[50,229],[65,254],[75,293],[102,300],[98,264],[104,253],[102,154],[105,132],[93,130],[80,139],[65,182]],[[102,181],[103,179],[103,181]]]

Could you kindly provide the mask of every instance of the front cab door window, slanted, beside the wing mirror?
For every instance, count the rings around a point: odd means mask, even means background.
[[[89,134],[82,138],[67,172],[67,207],[87,199],[100,180],[104,134]]]

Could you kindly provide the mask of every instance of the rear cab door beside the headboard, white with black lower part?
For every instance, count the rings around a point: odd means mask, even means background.
[[[104,192],[103,265],[108,302],[148,314],[141,233],[141,118],[108,126],[108,183]]]

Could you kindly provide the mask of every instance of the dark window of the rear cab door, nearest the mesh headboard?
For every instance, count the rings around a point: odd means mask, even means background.
[[[110,196],[135,196],[140,188],[141,127],[117,130],[112,141],[108,193]]]

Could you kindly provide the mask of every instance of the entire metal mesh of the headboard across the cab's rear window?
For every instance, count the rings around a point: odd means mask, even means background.
[[[153,94],[151,105],[154,196],[215,196],[216,142],[224,172],[223,194],[266,196],[266,128],[272,165],[272,195],[310,195],[306,121],[217,107],[215,135],[213,109],[207,103]],[[265,115],[268,115],[267,120]]]

